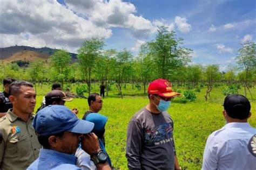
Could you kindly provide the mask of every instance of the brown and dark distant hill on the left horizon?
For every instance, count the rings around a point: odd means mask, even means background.
[[[12,61],[36,61],[46,60],[50,55],[55,53],[58,49],[52,49],[49,47],[35,48],[30,46],[11,46],[0,48],[0,61],[4,63]],[[77,54],[70,53],[72,62],[77,60]]]

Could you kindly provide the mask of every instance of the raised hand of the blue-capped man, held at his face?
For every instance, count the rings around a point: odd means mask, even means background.
[[[82,150],[89,155],[100,151],[99,140],[95,133],[84,134],[82,139]]]

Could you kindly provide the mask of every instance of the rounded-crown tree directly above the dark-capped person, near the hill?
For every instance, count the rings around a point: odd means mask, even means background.
[[[57,72],[57,79],[62,82],[62,88],[64,86],[64,80],[69,74],[69,63],[71,56],[65,49],[58,49],[53,55],[50,56],[51,64]]]

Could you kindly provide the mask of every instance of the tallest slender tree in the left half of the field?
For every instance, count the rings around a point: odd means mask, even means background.
[[[102,54],[104,46],[103,39],[92,38],[84,41],[82,47],[78,49],[79,68],[84,73],[89,95],[91,93],[92,69],[95,67],[96,59]]]

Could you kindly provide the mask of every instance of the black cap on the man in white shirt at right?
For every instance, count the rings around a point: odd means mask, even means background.
[[[247,118],[251,110],[250,102],[243,95],[228,95],[223,105],[228,116],[232,118]]]

